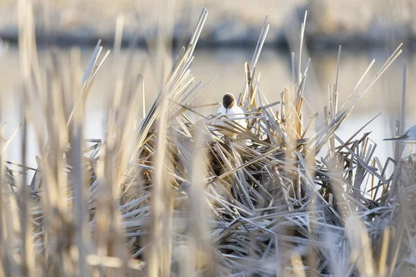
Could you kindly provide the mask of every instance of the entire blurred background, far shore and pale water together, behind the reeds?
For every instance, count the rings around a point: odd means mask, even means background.
[[[162,3],[162,2],[161,2]],[[171,2],[170,2],[171,3]],[[304,57],[311,57],[311,67],[306,81],[306,100],[321,118],[327,105],[328,86],[336,77],[338,45],[343,49],[338,77],[340,100],[355,86],[373,58],[372,70],[363,80],[358,93],[370,82],[376,71],[392,51],[404,42],[404,54],[392,64],[385,75],[367,92],[347,122],[338,130],[341,139],[365,124],[381,112],[363,132],[370,132],[377,143],[376,156],[385,161],[392,155],[393,144],[383,139],[394,135],[394,123],[399,119],[402,86],[402,60],[408,61],[408,93],[406,96],[406,125],[416,123],[413,75],[416,72],[416,55],[413,42],[416,37],[416,19],[412,17],[416,1],[400,0],[343,0],[343,1],[177,1],[173,39],[177,46],[187,44],[189,34],[203,6],[209,17],[200,44],[195,52],[193,73],[196,82],[208,82],[215,75],[196,102],[220,101],[224,93],[238,95],[244,84],[244,62],[252,59],[255,44],[266,15],[270,32],[266,47],[261,53],[258,71],[261,71],[261,89],[269,102],[279,100],[280,93],[290,85],[291,51],[298,55],[300,22],[304,10],[308,10]],[[149,57],[144,46],[144,37],[151,37],[155,30],[155,8],[153,1],[34,1],[37,37],[40,45],[40,62],[53,46],[68,54],[71,46],[80,46],[82,64],[85,68],[97,39],[103,39],[104,48],[112,50],[112,36],[117,15],[125,22],[124,42],[128,44],[132,35],[139,33],[139,45],[135,48],[132,76],[144,73],[146,108],[157,95],[153,73],[149,70]],[[6,122],[3,136],[8,139],[21,121],[18,98],[19,60],[17,50],[17,3],[15,0],[0,1],[0,36],[8,49],[0,56],[1,121]],[[128,59],[123,50],[123,59]],[[46,59],[46,57],[44,57]],[[304,58],[304,64],[307,59]],[[107,97],[112,91],[108,80],[112,78],[111,64],[105,62],[98,73],[92,92],[87,100],[85,136],[103,138],[103,123]],[[357,93],[357,94],[358,94]],[[203,114],[214,113],[218,106],[200,109]],[[306,114],[308,116],[308,114]],[[353,132],[354,131],[354,132]],[[30,132],[30,130],[29,130]],[[361,132],[361,133],[363,133]],[[34,137],[34,136],[33,136]],[[8,148],[8,159],[19,161],[19,136]],[[35,166],[37,145],[29,141],[29,166]]]

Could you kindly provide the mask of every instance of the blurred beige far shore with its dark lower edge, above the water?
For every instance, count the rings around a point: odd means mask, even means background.
[[[156,37],[157,5],[151,0],[79,1],[33,0],[35,28],[40,46],[94,46],[112,44],[119,15],[123,15],[123,46],[138,35],[136,46],[145,48]],[[254,3],[255,2],[255,3]],[[298,43],[307,10],[304,41],[310,49],[377,48],[403,42],[416,48],[415,1],[409,0],[293,0],[219,1],[177,0],[166,19],[166,42],[187,45],[200,10],[209,10],[198,47],[246,48],[256,46],[264,17],[270,30],[265,46],[292,48]],[[17,43],[17,3],[0,0],[0,37]]]

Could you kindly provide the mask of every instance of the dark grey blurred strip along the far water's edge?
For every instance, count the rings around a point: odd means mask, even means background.
[[[11,46],[17,46],[18,34],[17,30],[0,30],[0,38],[3,42],[7,42]],[[98,35],[89,33],[55,33],[51,35],[44,32],[36,33],[37,44],[42,46],[59,46],[60,48],[67,48],[71,46],[94,47],[98,40],[101,40],[101,45],[112,46],[114,44],[114,35]],[[132,46],[134,48],[147,48],[149,44],[154,42],[153,39],[146,38],[144,35],[135,37],[131,33],[123,34],[121,46],[127,48]],[[166,44],[171,44],[173,48],[178,46],[186,46],[189,43],[187,39],[182,36],[174,36],[171,39],[166,39]],[[385,42],[381,38],[367,37],[366,35],[305,35],[304,43],[311,51],[320,50],[338,50],[338,46],[343,46],[349,50],[367,50],[384,48],[386,46],[398,46],[400,43],[410,51],[416,50],[416,36],[406,37],[406,39],[397,39],[395,43]],[[198,48],[252,48],[257,45],[257,39],[250,37],[239,37],[238,39],[224,40],[215,39],[213,37],[202,38],[198,41]],[[291,49],[291,42],[283,35],[276,35],[274,39],[266,39],[264,43],[265,48],[277,48],[279,50]]]

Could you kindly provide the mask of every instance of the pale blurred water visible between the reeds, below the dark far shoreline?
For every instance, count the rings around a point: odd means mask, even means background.
[[[394,49],[391,49],[391,51]],[[92,49],[84,49],[82,55],[82,66],[85,68]],[[311,66],[309,69],[308,79],[306,82],[305,97],[309,104],[318,111],[322,116],[324,105],[327,105],[328,85],[333,84],[336,73],[337,53],[312,53]],[[341,56],[340,72],[338,77],[338,92],[340,102],[347,96],[347,93],[356,84],[358,78],[370,64],[373,57],[376,58],[372,70],[363,80],[358,88],[358,93],[364,89],[365,85],[370,82],[376,71],[381,67],[383,62],[390,55],[390,51],[377,50],[363,53],[343,52]],[[128,58],[128,53],[123,51],[123,60]],[[110,55],[111,57],[111,55]],[[196,51],[195,60],[192,66],[196,82],[202,80],[208,82],[214,75],[218,78],[212,82],[205,91],[194,100],[195,102],[213,102],[220,101],[224,93],[232,92],[237,95],[243,89],[244,84],[244,67],[246,61],[251,61],[252,50],[241,49],[219,49]],[[382,163],[392,154],[393,143],[383,141],[384,138],[393,135],[394,122],[399,118],[399,109],[401,103],[401,75],[402,59],[399,59],[385,72],[378,82],[367,92],[367,94],[358,103],[353,113],[347,118],[343,126],[336,134],[341,139],[347,139],[356,129],[365,124],[379,112],[382,112],[379,118],[367,126],[363,132],[372,131],[370,137],[378,144],[376,156]],[[412,78],[415,75],[416,55],[407,54],[408,60],[408,95],[406,100],[406,128],[415,123],[415,81]],[[41,57],[42,60],[42,57]],[[306,64],[306,58],[304,58]],[[4,136],[10,137],[15,128],[19,125],[21,117],[17,107],[17,84],[18,84],[18,53],[16,48],[10,48],[9,51],[0,57],[0,92],[2,96],[2,123],[6,122],[4,127]],[[109,89],[110,78],[112,78],[111,59],[103,65],[98,77],[94,82],[94,87],[87,100],[87,114],[85,120],[85,136],[88,138],[103,138],[103,120],[107,96],[112,93]],[[143,51],[137,50],[134,57],[133,69],[128,74],[135,76],[137,73],[144,73],[146,89],[146,107],[150,107],[155,99],[157,89],[152,73],[148,68],[148,57]],[[257,73],[261,72],[261,89],[268,97],[269,102],[279,100],[279,93],[291,83],[291,61],[290,53],[281,53],[272,49],[263,51],[257,65]],[[195,83],[196,83],[195,82]],[[358,94],[357,93],[357,94]],[[217,107],[200,109],[200,112],[209,114],[213,113]],[[306,109],[305,115],[312,114],[312,109]],[[361,134],[363,134],[361,132]],[[34,137],[29,133],[30,137]],[[358,135],[357,138],[359,138]],[[28,164],[36,166],[35,154],[37,154],[37,144],[35,140],[28,142]],[[19,162],[20,159],[20,139],[15,138],[8,148],[8,159]]]

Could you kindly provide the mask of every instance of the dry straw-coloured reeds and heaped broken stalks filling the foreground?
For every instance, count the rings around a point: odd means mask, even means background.
[[[109,53],[101,58],[98,43],[84,75],[77,50],[53,52],[41,67],[30,7],[19,8],[23,161],[28,126],[40,156],[28,168],[0,155],[1,276],[413,276],[413,162],[397,145],[397,157],[381,163],[370,134],[356,136],[365,126],[347,141],[336,136],[400,48],[362,91],[369,70],[345,98],[335,80],[321,118],[303,97],[308,66],[295,54],[293,85],[264,97],[265,21],[245,64],[242,129],[193,103],[205,88],[191,73],[204,9],[146,114],[141,75],[114,70],[107,137],[94,141],[83,137],[84,103]],[[114,69],[121,30],[119,21]],[[166,66],[164,46],[155,44],[156,73]],[[219,128],[237,136],[218,136]],[[3,152],[9,141],[0,141]]]

